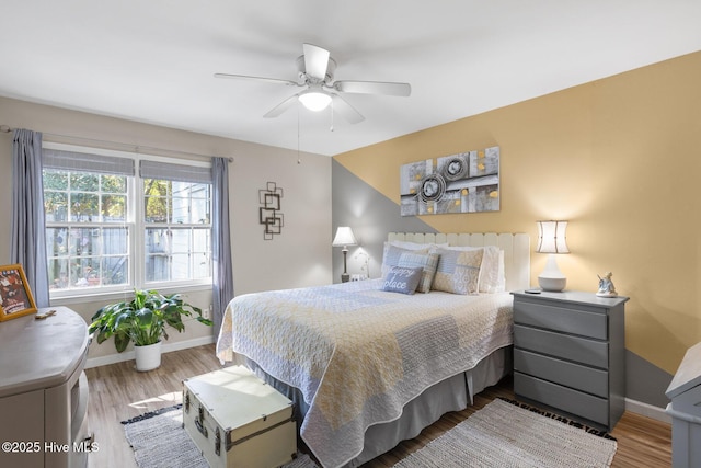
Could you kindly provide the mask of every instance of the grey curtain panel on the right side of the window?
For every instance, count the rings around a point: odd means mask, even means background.
[[[211,160],[212,216],[212,319],[215,332],[219,332],[223,311],[233,298],[233,265],[231,261],[231,236],[229,228],[229,161],[225,158]]]

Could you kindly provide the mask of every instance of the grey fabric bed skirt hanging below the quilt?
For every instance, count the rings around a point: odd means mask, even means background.
[[[245,365],[258,377],[285,395],[295,403],[297,434],[309,406],[301,392],[278,381],[245,356],[234,353],[234,364]],[[512,346],[502,347],[480,361],[474,368],[458,374],[427,388],[404,406],[402,415],[394,421],[376,424],[365,433],[363,452],[344,468],[357,467],[394,448],[401,441],[416,437],[421,431],[450,411],[461,411],[472,404],[473,397],[486,387],[498,383],[512,372]],[[303,445],[303,441],[298,440]]]

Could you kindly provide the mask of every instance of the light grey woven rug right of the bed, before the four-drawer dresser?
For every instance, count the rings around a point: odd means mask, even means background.
[[[609,467],[617,442],[606,433],[497,399],[395,465],[416,467]]]

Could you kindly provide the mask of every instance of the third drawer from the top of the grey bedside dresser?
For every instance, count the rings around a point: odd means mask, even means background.
[[[525,350],[514,350],[514,370],[608,398],[609,373]]]

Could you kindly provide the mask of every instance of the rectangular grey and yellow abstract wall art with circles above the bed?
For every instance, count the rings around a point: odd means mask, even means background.
[[[499,147],[400,168],[402,216],[499,210]]]

